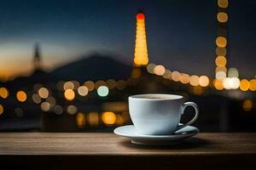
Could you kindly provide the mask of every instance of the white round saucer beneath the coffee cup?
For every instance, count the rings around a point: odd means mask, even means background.
[[[194,136],[195,134],[199,133],[199,129],[188,126],[183,127],[175,134],[171,135],[143,135],[137,133],[137,129],[134,127],[134,125],[126,125],[115,128],[113,133],[131,139],[131,143],[133,144],[171,145],[181,143],[184,139]]]

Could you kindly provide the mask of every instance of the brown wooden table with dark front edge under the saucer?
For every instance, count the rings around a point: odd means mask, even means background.
[[[148,147],[113,133],[0,133],[0,168],[216,169],[256,166],[256,133],[199,133]]]

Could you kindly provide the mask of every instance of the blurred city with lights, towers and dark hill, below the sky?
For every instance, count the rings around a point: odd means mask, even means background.
[[[195,101],[195,123],[205,132],[256,131],[256,77],[239,76],[229,67],[227,0],[218,1],[215,77],[189,74],[151,63],[146,37],[147,15],[136,15],[133,63],[118,56],[90,54],[44,71],[41,46],[34,45],[33,71],[28,77],[0,82],[0,130],[47,132],[110,132],[131,124],[127,99],[131,94],[181,94]],[[44,47],[42,47],[44,48]],[[132,50],[132,49],[131,49]],[[22,65],[20,65],[22,67]],[[193,109],[183,122],[193,115]]]

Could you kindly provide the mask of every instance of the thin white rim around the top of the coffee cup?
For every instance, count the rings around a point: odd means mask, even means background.
[[[146,96],[163,96],[165,99],[148,99]],[[149,100],[149,101],[160,101],[160,100],[176,100],[183,99],[182,95],[177,94],[135,94],[129,96],[129,99],[137,99],[137,100]]]

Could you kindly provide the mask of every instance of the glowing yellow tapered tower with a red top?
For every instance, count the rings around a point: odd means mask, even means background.
[[[135,66],[148,65],[148,48],[145,30],[145,15],[137,14],[136,41],[133,64]]]

